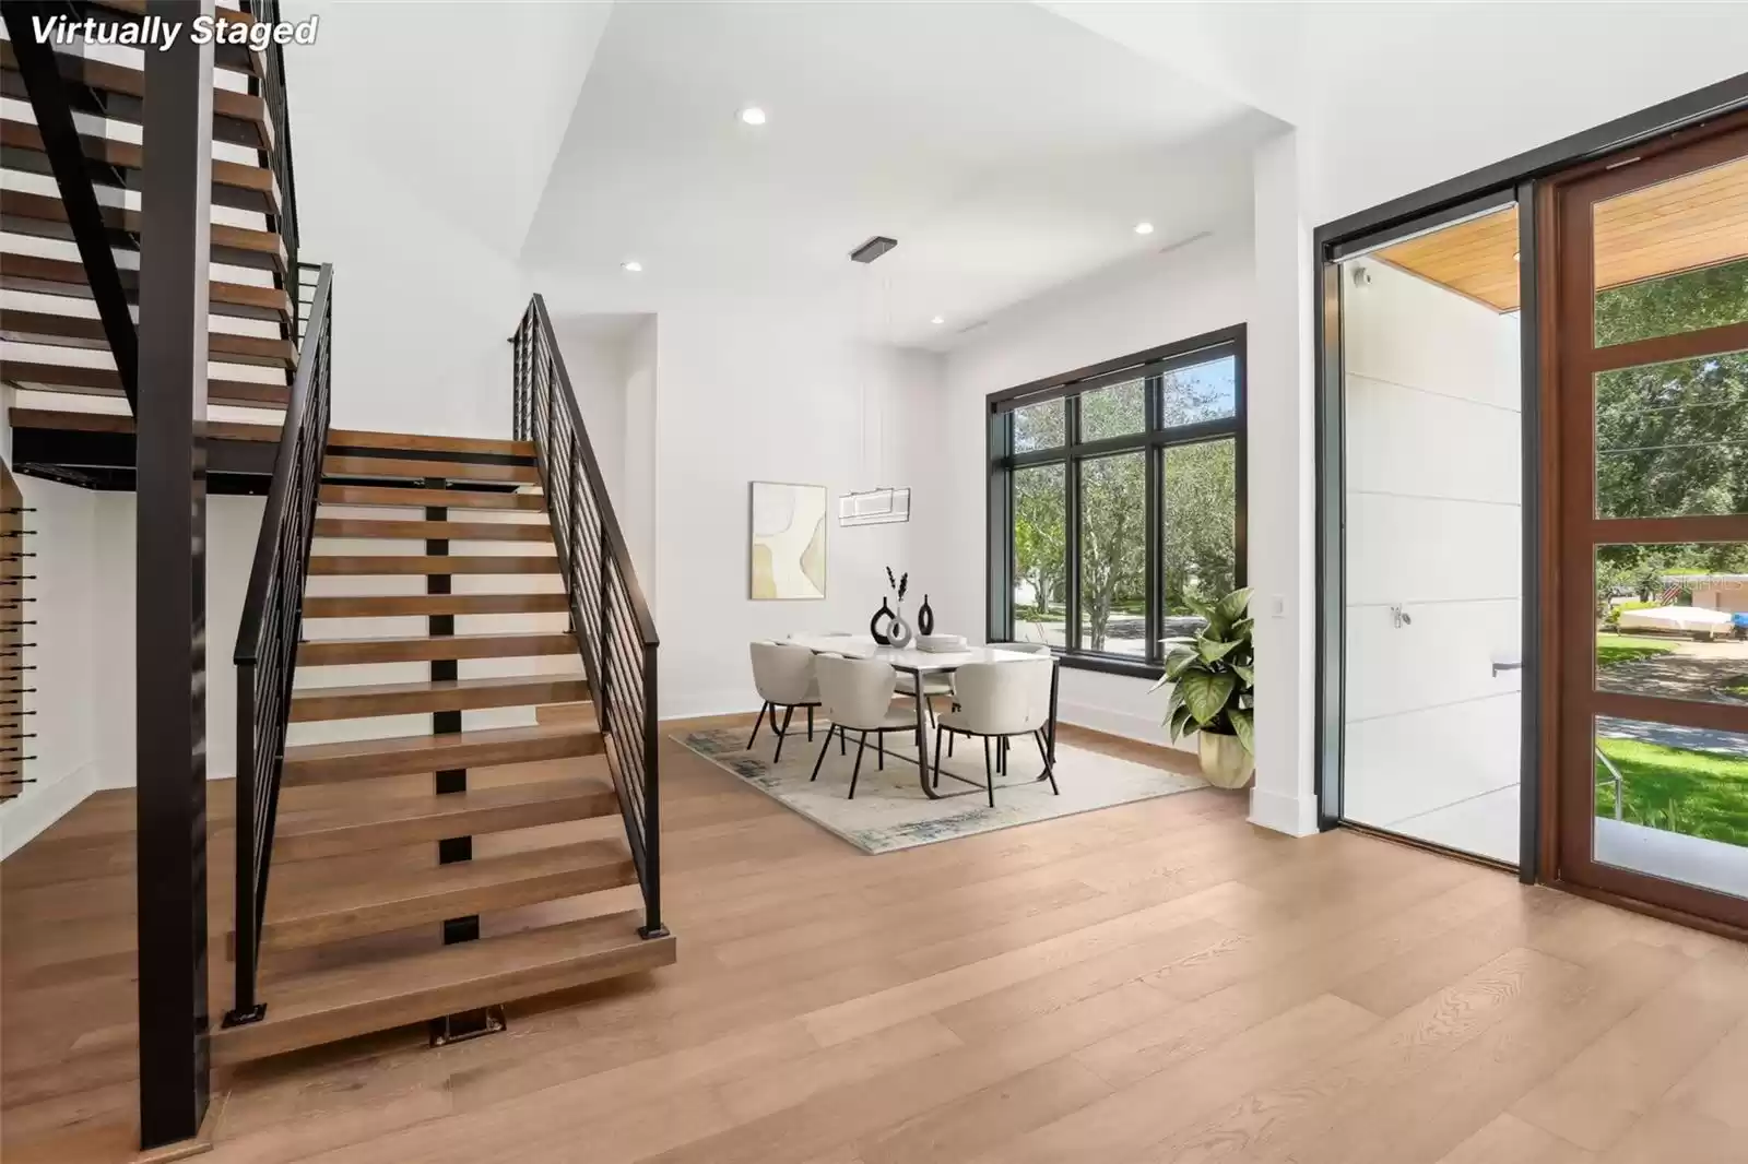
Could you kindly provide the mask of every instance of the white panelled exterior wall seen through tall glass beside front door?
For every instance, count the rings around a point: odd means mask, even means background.
[[[1519,779],[1519,673],[1491,668],[1523,640],[1519,336],[1384,262],[1348,267],[1342,809],[1393,827]]]

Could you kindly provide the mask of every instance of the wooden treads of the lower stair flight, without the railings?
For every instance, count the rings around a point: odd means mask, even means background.
[[[584,563],[554,542],[537,444],[334,430],[322,449],[278,788],[239,804],[266,893],[227,942],[218,1064],[675,960],[640,900],[645,834],[621,809],[643,776],[608,755],[593,692],[614,680],[573,631]],[[549,704],[566,713],[538,722]]]

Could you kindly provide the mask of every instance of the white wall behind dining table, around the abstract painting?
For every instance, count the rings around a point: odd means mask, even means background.
[[[752,481],[827,486],[837,496],[879,484],[935,505],[939,357],[857,337],[830,306],[722,299],[659,316],[656,350],[656,572],[645,584],[661,633],[662,717],[752,711],[746,643],[797,631],[862,631],[886,592],[884,570],[911,572],[940,629],[981,627],[940,599],[956,563],[916,551],[911,524],[827,533],[825,598],[752,601]],[[881,423],[884,419],[884,437]]]

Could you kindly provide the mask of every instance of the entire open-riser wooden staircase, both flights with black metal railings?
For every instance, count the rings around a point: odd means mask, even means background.
[[[145,3],[9,0],[0,42],[14,467],[133,489],[150,63],[28,44],[31,14],[124,24]],[[427,1019],[467,1033],[675,960],[657,640],[545,308],[512,337],[514,383],[481,386],[516,439],[332,426],[336,278],[299,262],[281,54],[217,51],[210,128],[205,484],[266,495],[232,657],[215,1064]]]

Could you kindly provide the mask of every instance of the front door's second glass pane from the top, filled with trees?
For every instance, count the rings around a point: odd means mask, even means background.
[[[1596,516],[1713,514],[1748,514],[1748,351],[1599,372]]]

